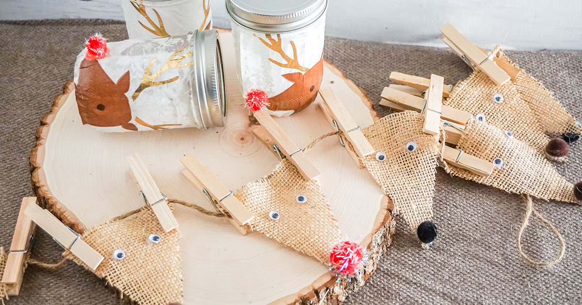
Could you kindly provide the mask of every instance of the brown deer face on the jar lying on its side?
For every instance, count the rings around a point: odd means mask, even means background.
[[[97,127],[121,126],[137,131],[132,109],[125,95],[129,91],[129,71],[117,83],[105,73],[98,60],[83,59],[75,85],[77,107],[83,124]]]

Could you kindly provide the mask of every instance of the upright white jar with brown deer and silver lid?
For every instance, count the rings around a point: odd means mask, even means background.
[[[243,95],[261,89],[268,112],[310,105],[323,79],[327,0],[226,0]]]

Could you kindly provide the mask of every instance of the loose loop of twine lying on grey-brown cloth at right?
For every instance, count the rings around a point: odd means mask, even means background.
[[[519,254],[521,254],[521,257],[523,257],[523,259],[528,261],[528,263],[536,265],[536,266],[550,267],[552,265],[558,264],[559,261],[562,260],[562,258],[564,257],[564,253],[566,250],[566,243],[564,242],[564,238],[562,237],[562,234],[560,234],[560,232],[558,232],[558,229],[556,229],[556,227],[554,227],[548,220],[546,220],[543,216],[541,216],[540,213],[538,213],[538,211],[536,211],[534,209],[534,203],[533,203],[533,200],[531,200],[530,195],[524,194],[524,195],[521,195],[521,198],[526,200],[526,214],[523,216],[523,221],[521,222],[521,225],[519,227],[519,231],[517,231],[516,242],[517,242],[517,250],[519,251]],[[538,260],[532,259],[530,256],[528,256],[521,249],[521,237],[523,235],[523,232],[527,228],[531,214],[534,214],[534,216],[537,217],[538,220],[540,220],[540,222],[542,224],[544,224],[550,231],[552,231],[552,233],[556,236],[556,238],[558,238],[558,242],[560,243],[560,249],[558,251],[558,255],[556,255],[556,257],[551,261],[538,261]]]

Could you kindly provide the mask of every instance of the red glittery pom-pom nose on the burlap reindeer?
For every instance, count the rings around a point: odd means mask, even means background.
[[[364,250],[355,242],[340,242],[329,253],[329,264],[339,274],[354,274],[364,263]]]

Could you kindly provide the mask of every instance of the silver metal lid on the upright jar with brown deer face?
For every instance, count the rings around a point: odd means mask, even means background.
[[[264,33],[284,33],[306,27],[324,15],[327,0],[226,0],[231,20]]]

